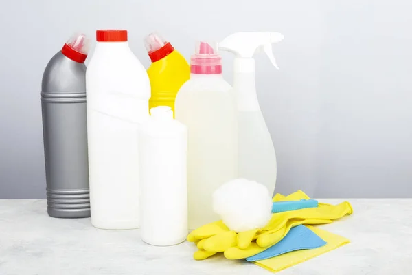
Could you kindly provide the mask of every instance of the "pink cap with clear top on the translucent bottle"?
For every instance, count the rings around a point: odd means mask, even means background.
[[[222,56],[217,54],[218,43],[196,41],[195,53],[190,58],[192,74],[222,74]]]

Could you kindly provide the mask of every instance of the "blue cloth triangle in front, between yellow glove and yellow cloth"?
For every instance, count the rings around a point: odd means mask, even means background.
[[[246,259],[249,262],[259,261],[295,250],[320,248],[323,245],[326,245],[326,242],[317,234],[314,234],[312,230],[305,225],[297,225],[294,228],[290,228],[288,234],[284,239],[279,241],[279,243],[276,243],[267,250]]]

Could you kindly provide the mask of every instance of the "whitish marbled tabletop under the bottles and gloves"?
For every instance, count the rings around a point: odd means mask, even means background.
[[[278,274],[412,274],[412,199],[348,201],[354,214],[322,228],[352,243]],[[150,246],[139,230],[98,230],[90,219],[53,219],[45,200],[0,200],[1,275],[271,274],[223,256],[195,261],[195,250]]]

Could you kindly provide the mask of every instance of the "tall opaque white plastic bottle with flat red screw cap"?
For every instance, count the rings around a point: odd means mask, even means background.
[[[150,82],[126,30],[98,30],[96,39],[86,73],[91,223],[139,228],[139,126]]]

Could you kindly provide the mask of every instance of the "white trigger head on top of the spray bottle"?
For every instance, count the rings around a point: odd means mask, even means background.
[[[256,50],[262,47],[273,66],[279,69],[273,56],[272,44],[282,39],[284,36],[279,32],[236,32],[223,39],[219,43],[219,49],[233,52],[238,57],[253,58]]]

